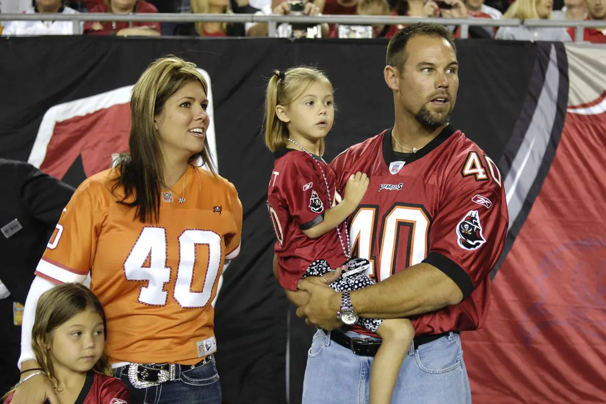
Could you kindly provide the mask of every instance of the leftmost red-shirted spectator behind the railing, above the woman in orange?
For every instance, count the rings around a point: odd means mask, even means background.
[[[90,12],[132,15],[135,13],[157,13],[158,9],[144,0],[104,0],[103,4],[91,8]],[[159,22],[87,21],[84,24],[84,33],[89,35],[159,36],[160,32]]]

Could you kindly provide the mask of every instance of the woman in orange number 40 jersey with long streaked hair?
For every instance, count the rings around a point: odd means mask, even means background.
[[[221,403],[213,353],[213,298],[239,251],[242,205],[213,169],[207,82],[179,58],[153,62],[133,88],[130,154],[85,180],[65,208],[25,303],[21,379],[38,297],[84,282],[105,308],[107,353],[133,402]],[[202,166],[205,165],[205,168]],[[14,404],[58,404],[44,375]]]

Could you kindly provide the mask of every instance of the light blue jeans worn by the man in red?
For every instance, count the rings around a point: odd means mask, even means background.
[[[351,331],[347,335],[364,337]],[[307,355],[302,404],[367,404],[372,363],[372,357],[358,356],[318,330]],[[471,403],[458,334],[450,333],[418,349],[411,346],[391,403]]]

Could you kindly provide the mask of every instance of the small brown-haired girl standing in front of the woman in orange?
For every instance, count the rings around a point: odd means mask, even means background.
[[[105,356],[105,313],[86,286],[65,283],[38,300],[32,347],[40,368],[26,379],[46,375],[62,404],[127,404],[130,394],[112,376]],[[15,389],[5,396],[10,403]]]

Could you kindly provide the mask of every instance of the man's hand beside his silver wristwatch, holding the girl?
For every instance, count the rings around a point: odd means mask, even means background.
[[[298,317],[305,317],[305,323],[313,324],[328,331],[340,328],[337,311],[341,309],[341,294],[333,291],[318,277],[307,277],[299,282],[299,290],[310,297],[307,304],[297,309]]]

